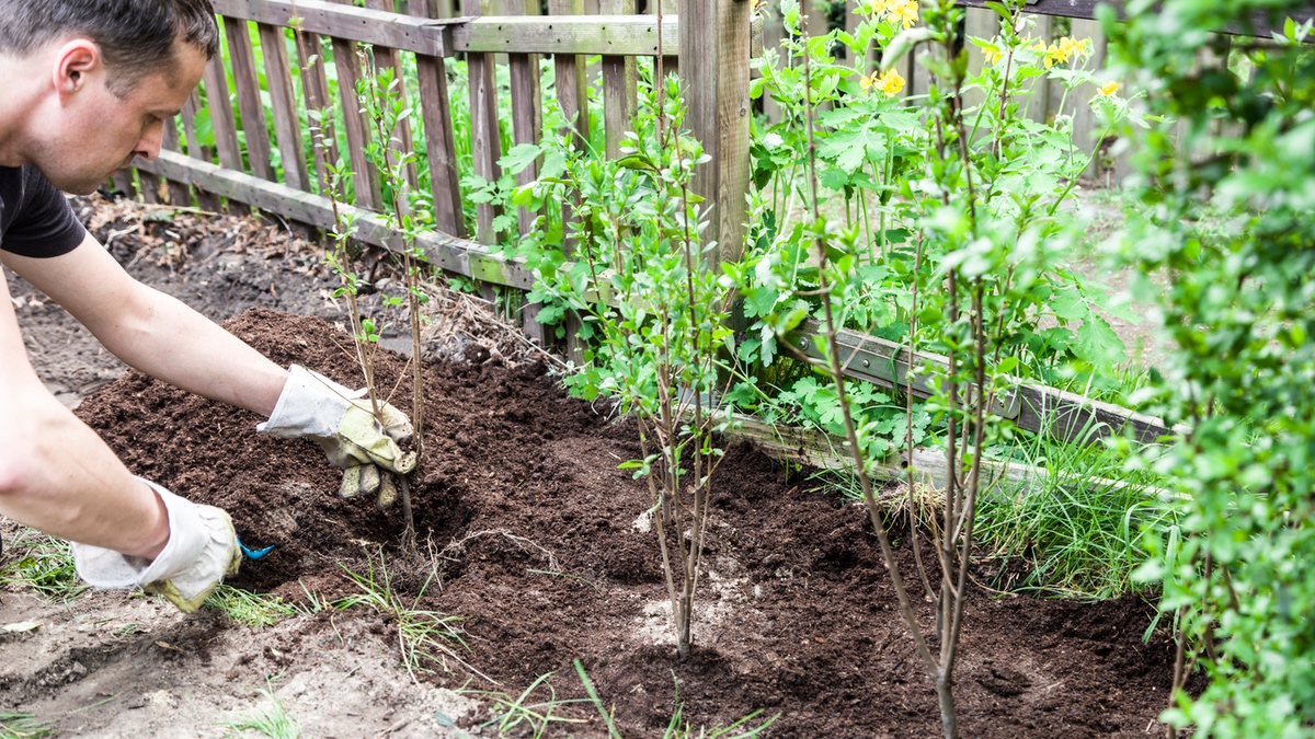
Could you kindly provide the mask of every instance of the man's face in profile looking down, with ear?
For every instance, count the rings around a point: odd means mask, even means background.
[[[97,64],[39,134],[34,162],[41,174],[59,189],[87,195],[134,156],[154,159],[164,121],[183,108],[204,70],[205,54],[179,43],[171,67],[147,75],[120,97],[107,85],[116,70]]]

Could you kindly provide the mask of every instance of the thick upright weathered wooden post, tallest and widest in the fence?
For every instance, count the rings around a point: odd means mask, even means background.
[[[718,245],[714,263],[744,251],[751,13],[748,0],[680,0],[685,122],[711,156],[696,172],[694,192],[710,220],[704,238]]]

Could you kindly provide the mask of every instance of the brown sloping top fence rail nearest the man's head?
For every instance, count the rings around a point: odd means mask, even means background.
[[[450,57],[448,30],[423,17],[409,17],[377,9],[355,8],[329,0],[213,0],[221,16],[247,18],[262,24],[287,26],[289,18],[301,18],[309,33],[405,49],[430,57]]]

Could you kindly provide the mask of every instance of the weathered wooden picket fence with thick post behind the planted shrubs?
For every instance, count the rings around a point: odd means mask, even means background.
[[[605,149],[617,156],[635,116],[636,64],[659,54],[658,18],[636,14],[636,0],[498,0],[498,16],[481,12],[493,8],[493,0],[463,0],[460,8],[452,7],[454,0],[409,0],[402,7],[394,1],[401,0],[366,0],[366,8],[356,8],[351,0],[213,0],[226,54],[206,67],[180,120],[166,125],[159,158],[134,162],[141,184],[135,192],[149,201],[195,201],[210,210],[226,201],[230,210],[255,208],[313,229],[331,229],[334,206],[322,195],[326,158],[331,163],[341,153],[354,174],[354,205],[342,208],[359,217],[356,238],[397,250],[400,234],[377,214],[384,208],[383,188],[366,156],[371,121],[360,113],[355,88],[366,74],[358,46],[368,43],[373,64],[402,72],[402,85],[418,92],[421,101],[409,122],[416,129],[398,137],[401,146],[423,151],[426,166],[408,171],[406,178],[412,185],[423,184],[434,203],[437,230],[423,234],[417,246],[433,266],[475,279],[487,291],[494,285],[513,288],[512,295],[529,291],[533,274],[487,246],[500,216],[492,204],[475,206],[473,233],[467,233],[459,158],[469,158],[475,175],[497,180],[504,134],[512,145],[539,141],[544,96],[555,96],[583,145],[590,130],[590,80],[602,92]],[[604,14],[586,16],[586,9]],[[663,18],[661,53],[679,50],[672,66],[679,64],[689,82],[686,124],[713,156],[696,181],[713,206],[707,238],[736,249],[743,242],[748,187],[751,4],[680,0],[680,11]],[[456,12],[463,14],[454,17]],[[986,30],[970,33],[986,36]],[[466,88],[450,89],[459,78],[450,74],[447,62],[458,54],[466,59]],[[552,55],[551,87],[539,79],[540,55]],[[596,67],[586,64],[593,55],[600,58]],[[913,71],[906,76],[918,91],[922,78]],[[508,80],[510,121],[498,120],[500,79]],[[467,130],[454,126],[458,108],[462,120],[468,120]],[[326,147],[310,146],[308,116],[331,117],[339,135]],[[200,143],[206,126],[213,151]],[[518,180],[535,176],[531,166]],[[133,187],[126,172],[116,176],[116,184],[126,191]],[[518,213],[515,221],[522,234],[533,224],[529,213]],[[525,306],[525,329],[543,341],[535,314],[535,306]],[[849,331],[842,338],[851,376],[902,384],[909,370],[906,350]],[[803,334],[789,341],[811,345]],[[914,358],[919,364],[936,359]],[[1153,418],[1034,385],[1020,387],[998,412],[1024,429],[1065,439],[1095,438],[1093,423],[1099,426],[1097,435],[1122,427],[1132,427],[1144,441],[1166,434]]]

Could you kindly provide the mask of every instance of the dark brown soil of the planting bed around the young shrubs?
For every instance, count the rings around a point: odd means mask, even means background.
[[[255,309],[227,327],[275,362],[360,384],[342,348],[350,338],[323,321]],[[404,366],[393,355],[380,362],[387,384]],[[434,362],[425,372],[416,517],[422,540],[444,554],[422,605],[464,618],[466,660],[500,689],[518,694],[555,672],[558,696],[579,697],[571,663],[580,659],[626,736],[660,735],[673,676],[696,727],[761,709],[780,713],[769,736],[940,734],[863,509],[809,489],[751,447],[731,448],[714,480],[706,613],[694,655],[680,663],[661,613],[658,543],[635,526],[648,492],[617,468],[639,456],[633,427],[568,398],[542,368],[494,359]],[[405,379],[396,397],[410,397]],[[237,585],[289,598],[302,586],[346,594],[355,585],[338,563],[364,573],[380,548],[401,590],[423,584],[416,567],[397,564],[400,512],[339,500],[337,473],[314,444],[254,434],[251,413],[135,372],[78,413],[134,472],[225,506],[247,544],[277,547],[246,563]],[[454,540],[464,543],[448,547]],[[911,559],[907,546],[901,556]],[[961,734],[1144,736],[1172,676],[1169,644],[1141,640],[1151,617],[1134,598],[974,590],[957,671]]]

